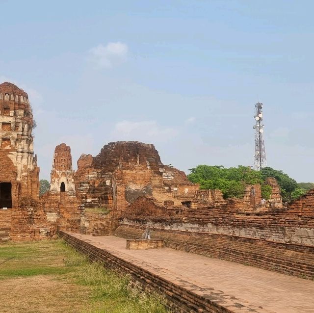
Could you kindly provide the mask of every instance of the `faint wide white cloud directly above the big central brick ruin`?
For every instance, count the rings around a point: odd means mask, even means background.
[[[156,121],[122,121],[116,123],[110,137],[111,140],[117,141],[134,140],[153,143],[168,141],[178,133],[178,130],[158,125]]]

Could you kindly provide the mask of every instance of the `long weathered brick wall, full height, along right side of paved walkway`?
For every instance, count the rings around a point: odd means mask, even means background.
[[[115,234],[138,238],[150,227],[154,238],[175,249],[313,278],[313,208],[314,190],[288,208],[256,211],[239,199],[166,208],[142,197],[127,208]]]

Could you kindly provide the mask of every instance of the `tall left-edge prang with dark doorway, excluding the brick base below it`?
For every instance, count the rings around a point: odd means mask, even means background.
[[[27,93],[10,82],[0,84],[0,208],[18,208],[22,197],[38,200],[33,126]]]

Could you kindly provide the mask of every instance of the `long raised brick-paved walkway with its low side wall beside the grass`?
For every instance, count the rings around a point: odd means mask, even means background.
[[[169,248],[128,250],[126,240],[60,232],[92,260],[128,272],[179,312],[313,313],[314,282]]]

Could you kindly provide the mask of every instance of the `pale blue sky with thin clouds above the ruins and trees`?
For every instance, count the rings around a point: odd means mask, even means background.
[[[82,2],[82,3],[80,3]],[[313,1],[0,0],[0,81],[24,88],[49,179],[54,147],[155,144],[164,164],[267,165],[314,181]]]

